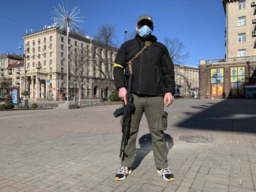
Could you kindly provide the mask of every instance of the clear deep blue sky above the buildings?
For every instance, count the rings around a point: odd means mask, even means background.
[[[187,64],[197,66],[199,59],[217,59],[225,55],[224,30],[226,17],[221,0],[68,0],[81,8],[80,16],[86,35],[93,36],[104,23],[114,24],[119,43],[124,41],[124,30],[133,32],[138,16],[149,14],[153,17],[154,31],[158,41],[165,36],[178,38],[191,52]],[[66,0],[63,1],[66,4]],[[194,3],[198,2],[198,3]],[[188,5],[194,3],[192,5]],[[50,11],[56,0],[9,0],[0,1],[0,53],[21,54],[17,48],[23,45],[21,36],[33,28],[33,32],[49,25],[54,16]],[[186,6],[187,5],[187,6]],[[17,23],[1,16],[26,24]],[[38,28],[36,28],[38,27]]]

